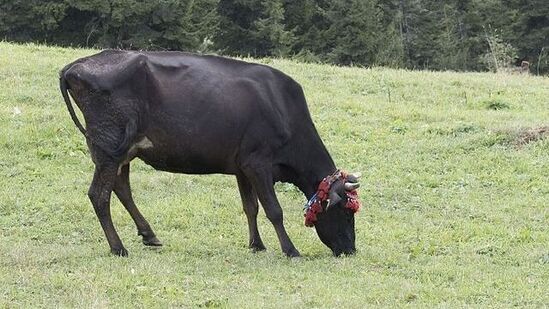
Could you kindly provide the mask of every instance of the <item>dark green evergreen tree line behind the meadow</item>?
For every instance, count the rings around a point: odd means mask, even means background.
[[[547,0],[0,0],[0,38],[281,56],[338,65],[549,73]]]

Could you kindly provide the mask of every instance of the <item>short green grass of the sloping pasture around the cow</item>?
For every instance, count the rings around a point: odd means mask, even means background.
[[[247,248],[234,177],[132,162],[136,203],[164,242],[145,248],[113,197],[129,258],[112,257],[87,198],[93,164],[58,71],[95,50],[0,43],[0,307],[546,307],[549,79],[259,61],[305,90],[338,167],[361,171],[353,257],[303,226],[305,198],[277,185],[303,257]]]

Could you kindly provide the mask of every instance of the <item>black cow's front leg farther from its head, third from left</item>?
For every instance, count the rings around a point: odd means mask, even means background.
[[[265,250],[265,245],[263,245],[263,241],[259,235],[259,230],[257,229],[257,212],[259,208],[257,203],[257,194],[246,176],[237,175],[236,180],[238,182],[240,197],[242,198],[244,213],[248,219],[248,231],[250,235],[249,247],[254,252],[263,251]]]

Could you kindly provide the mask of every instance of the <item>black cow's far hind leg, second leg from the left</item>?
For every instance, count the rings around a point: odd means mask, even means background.
[[[154,234],[149,222],[143,217],[135,202],[133,201],[131,187],[130,187],[130,165],[126,164],[120,168],[120,174],[116,177],[114,185],[114,193],[122,202],[122,205],[126,208],[130,216],[132,217],[135,225],[137,226],[137,235],[143,237],[143,244],[147,246],[162,246],[162,243]]]

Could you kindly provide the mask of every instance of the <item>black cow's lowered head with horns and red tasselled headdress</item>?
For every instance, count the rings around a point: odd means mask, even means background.
[[[358,187],[358,177],[353,174],[334,180],[329,186],[328,199],[319,201],[321,208],[317,209],[314,220],[309,220],[309,225],[314,224],[318,237],[335,256],[356,251],[355,213],[359,204],[355,190]]]

